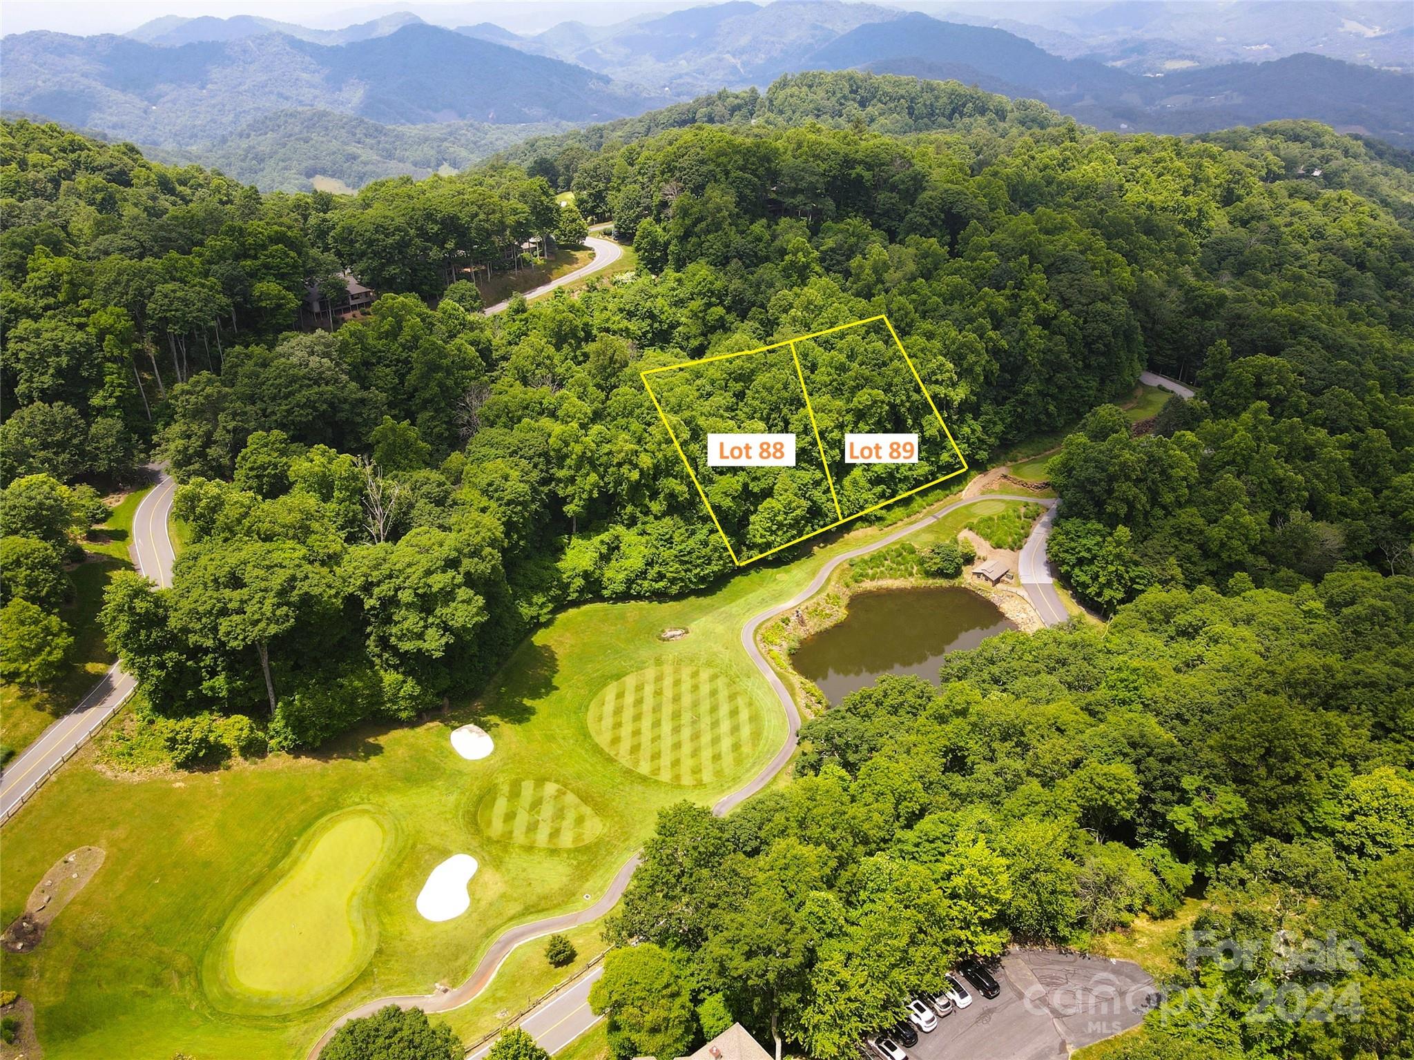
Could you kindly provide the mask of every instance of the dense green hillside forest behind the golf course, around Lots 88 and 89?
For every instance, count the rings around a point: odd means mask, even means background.
[[[950,126],[865,131],[909,90],[915,123]],[[6,530],[62,558],[83,486],[168,462],[191,529],[175,587],[120,578],[103,620],[174,758],[410,717],[475,690],[563,603],[721,577],[639,370],[880,312],[974,465],[1145,363],[1200,384],[1140,438],[1094,411],[1052,466],[1055,558],[1106,611],[1150,585],[1407,568],[1408,172],[1314,124],[1205,143],[906,79],[773,92],[782,124],[847,127],[694,124],[566,144],[549,174],[498,161],[352,198],[4,126]],[[566,184],[641,274],[482,317],[465,278],[551,230]],[[344,267],[383,293],[372,312],[297,331],[307,283],[337,297]],[[834,377],[841,403],[867,383],[878,416],[912,414],[887,372]],[[752,423],[776,383],[696,423],[666,408],[683,430]],[[727,497],[734,533],[779,541],[823,506],[803,473],[771,483]]]

